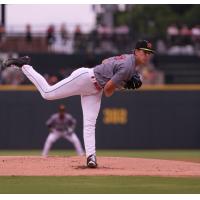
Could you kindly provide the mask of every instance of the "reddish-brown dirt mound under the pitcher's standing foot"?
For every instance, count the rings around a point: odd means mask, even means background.
[[[200,163],[125,157],[98,157],[88,169],[85,157],[0,156],[0,176],[198,176]]]

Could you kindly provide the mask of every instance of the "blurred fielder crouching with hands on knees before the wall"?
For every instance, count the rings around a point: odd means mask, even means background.
[[[50,133],[45,141],[42,156],[47,156],[54,142],[59,138],[64,138],[71,142],[77,155],[84,155],[82,145],[75,134],[76,120],[66,112],[65,105],[61,104],[58,113],[53,114],[46,122]]]

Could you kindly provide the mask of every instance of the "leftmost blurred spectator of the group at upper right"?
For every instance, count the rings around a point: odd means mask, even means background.
[[[171,24],[167,28],[167,39],[168,42],[170,43],[170,46],[175,45],[178,41],[178,36],[179,36],[179,29],[176,26],[176,24]]]

